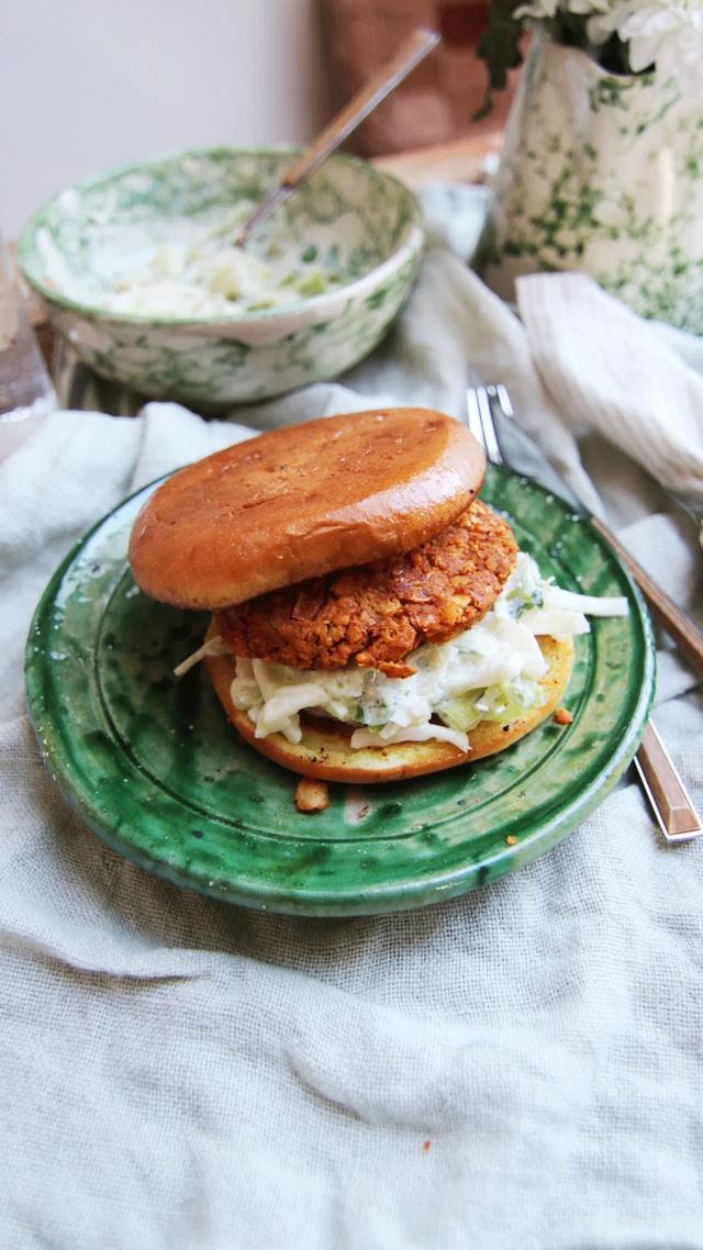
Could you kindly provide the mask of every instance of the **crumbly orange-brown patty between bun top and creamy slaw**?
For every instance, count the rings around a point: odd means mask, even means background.
[[[404,555],[341,569],[216,614],[235,655],[296,669],[345,665],[405,678],[405,658],[475,625],[515,565],[510,526],[477,500]]]

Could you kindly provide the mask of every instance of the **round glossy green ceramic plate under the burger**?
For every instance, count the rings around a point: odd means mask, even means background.
[[[577,640],[565,704],[503,754],[434,778],[331,786],[300,815],[295,778],[241,745],[205,671],[173,668],[206,618],[146,599],[125,562],[153,488],[106,516],[66,558],[28,642],[29,704],[66,799],[115,850],[178,885],[308,915],[394,911],[463,894],[549,850],[632,759],[654,685],[642,600],[602,539],[562,500],[490,469],[483,495],[559,585],[627,595],[627,619]]]

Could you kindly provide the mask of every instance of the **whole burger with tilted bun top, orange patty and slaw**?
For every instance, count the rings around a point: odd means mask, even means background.
[[[253,748],[393,781],[505,749],[558,706],[585,612],[477,499],[483,449],[427,409],[323,418],[174,474],[135,520],[154,599],[211,612],[205,660]]]

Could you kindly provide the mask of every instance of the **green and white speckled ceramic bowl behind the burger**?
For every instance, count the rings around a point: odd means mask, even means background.
[[[218,319],[108,310],[115,278],[184,221],[211,226],[274,186],[291,149],[213,149],[130,165],[69,188],[19,244],[28,282],[95,372],[201,409],[250,402],[334,378],[380,340],[423,249],[420,210],[395,179],[333,156],[250,242],[334,271],[335,285],[284,309]]]

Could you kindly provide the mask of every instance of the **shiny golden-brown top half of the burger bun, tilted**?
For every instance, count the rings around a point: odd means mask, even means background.
[[[153,599],[228,608],[409,551],[478,494],[480,445],[429,409],[306,421],[174,474],[134,524],[129,562]]]

